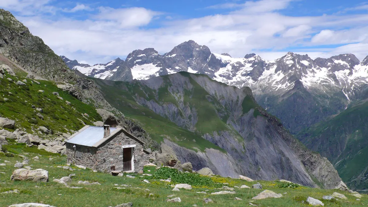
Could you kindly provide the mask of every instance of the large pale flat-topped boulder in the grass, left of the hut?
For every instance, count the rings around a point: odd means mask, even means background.
[[[49,172],[44,169],[16,169],[13,171],[13,174],[10,177],[11,180],[32,180],[35,182],[48,182],[49,181]]]

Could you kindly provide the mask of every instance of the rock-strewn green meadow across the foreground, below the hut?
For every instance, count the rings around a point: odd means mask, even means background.
[[[39,161],[34,161],[30,159],[29,165],[33,169],[46,169],[49,171],[49,182],[47,183],[35,183],[31,181],[11,181],[10,175],[14,171],[13,165],[17,161],[21,161],[22,158],[14,155],[14,157],[6,157],[0,152],[0,163],[4,163],[5,160],[10,161],[6,163],[6,166],[1,166],[0,171],[0,192],[5,192],[7,190],[18,189],[19,194],[2,194],[0,199],[0,206],[8,206],[10,204],[17,203],[44,203],[57,207],[100,207],[100,206],[116,206],[121,203],[132,202],[134,206],[192,206],[197,204],[198,206],[248,206],[248,201],[256,196],[258,193],[262,192],[261,189],[237,189],[235,188],[236,194],[226,194],[226,195],[206,195],[197,194],[196,192],[201,192],[204,190],[209,190],[208,193],[221,191],[219,189],[214,189],[214,187],[206,186],[193,186],[192,190],[181,190],[180,192],[172,192],[170,185],[163,182],[150,180],[151,184],[142,182],[142,178],[139,175],[136,179],[126,178],[126,177],[115,177],[106,173],[92,172],[91,170],[83,170],[74,168],[74,172],[57,168],[57,166],[66,165],[66,157],[64,155],[53,154],[46,152],[44,150],[38,150],[36,148],[28,148],[24,145],[10,145],[8,150],[16,153],[25,155],[28,158],[35,156],[40,157]],[[49,158],[53,159],[50,161]],[[148,172],[147,170],[151,170]],[[155,169],[145,168],[145,173],[153,173]],[[72,178],[71,186],[80,186],[83,189],[68,189],[61,184],[52,182],[53,179],[58,179],[63,176],[68,176],[70,173],[75,173],[76,177]],[[101,185],[78,185],[79,180],[88,180],[89,182],[99,182]],[[272,181],[256,181],[247,182],[240,179],[230,179],[215,177],[212,178],[216,183],[229,183],[230,187],[248,185],[251,186],[256,182],[259,182],[264,189],[272,190],[276,193],[287,193],[283,194],[282,198],[279,199],[263,199],[254,201],[253,203],[260,206],[273,206],[273,207],[305,207],[306,204],[301,203],[301,200],[306,199],[306,197],[311,196],[316,199],[322,200],[323,195],[332,194],[335,190],[322,190],[313,189],[309,187],[298,187],[296,189],[277,187],[278,181],[273,183]],[[3,183],[4,182],[4,183]],[[132,185],[132,187],[140,187],[141,189],[133,189],[127,187],[127,190],[116,190],[114,189],[114,184],[118,185]],[[120,186],[123,187],[123,186]],[[145,192],[144,189],[149,189],[150,192]],[[350,193],[337,191],[338,193],[345,194],[348,200],[340,201],[325,201],[325,207],[344,207],[344,206],[362,206],[368,204],[368,197],[364,196],[360,201],[357,201],[356,197],[349,195]],[[149,193],[153,193],[153,196],[149,196]],[[181,203],[167,203],[166,199],[168,195],[176,194],[174,197],[180,197]],[[208,197],[215,201],[215,203],[205,204],[202,199]],[[234,197],[239,197],[243,200],[234,200]]]

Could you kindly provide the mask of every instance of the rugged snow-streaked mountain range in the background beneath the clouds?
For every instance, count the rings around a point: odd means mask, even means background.
[[[309,149],[329,158],[350,187],[368,187],[367,164],[347,167],[360,160],[367,147],[367,122],[354,115],[363,116],[361,112],[368,107],[364,104],[368,56],[362,61],[353,54],[313,60],[289,52],[269,61],[254,53],[243,58],[215,54],[207,46],[187,41],[163,55],[153,48],[134,50],[125,60],[94,66],[61,58],[70,69],[110,81],[148,80],[187,71],[238,88],[250,87],[256,103],[279,118]],[[352,140],[360,147],[352,147]]]

